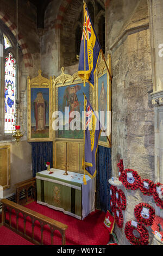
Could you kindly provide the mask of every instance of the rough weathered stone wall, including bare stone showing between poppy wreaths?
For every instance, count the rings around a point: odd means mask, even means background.
[[[126,3],[127,2],[127,3]],[[120,4],[120,5],[119,5]],[[118,11],[119,9],[122,12]],[[106,47],[112,58],[112,175],[118,176],[117,162],[137,171],[142,179],[154,176],[154,111],[151,103],[152,63],[146,0],[110,1],[106,8]],[[109,23],[109,20],[111,22]],[[155,207],[153,197],[140,190],[122,188],[127,198],[123,228],[115,227],[121,245],[130,245],[124,234],[127,221],[135,220],[139,203]],[[149,244],[153,241],[151,229]]]

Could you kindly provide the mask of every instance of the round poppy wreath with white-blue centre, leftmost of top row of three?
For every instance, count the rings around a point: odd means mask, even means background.
[[[123,170],[121,174],[121,182],[128,190],[137,190],[140,186],[141,178],[133,169]]]

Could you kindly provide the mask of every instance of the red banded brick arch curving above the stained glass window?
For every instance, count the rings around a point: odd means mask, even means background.
[[[17,28],[15,23],[13,23],[10,20],[10,17],[8,14],[3,13],[2,10],[0,10],[0,19],[5,23],[5,25],[10,29],[12,34],[17,38]],[[23,35],[21,33],[18,33],[18,44],[21,47],[22,53],[23,53],[23,60],[24,60],[24,65],[26,68],[32,67],[32,56],[28,50],[28,46],[26,42],[23,39]]]

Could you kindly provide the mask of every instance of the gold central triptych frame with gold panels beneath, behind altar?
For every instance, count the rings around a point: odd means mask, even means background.
[[[64,67],[61,68],[61,75],[53,77],[53,112],[58,111],[58,88],[72,86],[83,83],[78,76],[78,72],[68,75],[64,73]],[[95,92],[89,86],[90,101],[95,107]],[[83,96],[84,99],[84,96]],[[52,119],[53,121],[53,119]],[[58,138],[53,131],[53,168],[64,169],[67,163],[68,171],[83,173],[83,139],[79,138]]]

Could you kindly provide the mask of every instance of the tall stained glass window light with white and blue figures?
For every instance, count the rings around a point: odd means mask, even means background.
[[[12,53],[5,57],[4,132],[11,133],[14,124],[16,100],[16,60]]]

